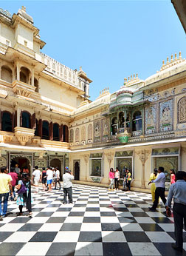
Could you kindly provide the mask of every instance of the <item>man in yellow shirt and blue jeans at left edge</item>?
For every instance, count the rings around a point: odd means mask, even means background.
[[[9,192],[10,195],[13,196],[13,189],[12,189],[12,183],[13,180],[10,175],[6,174],[7,167],[2,166],[1,172],[0,172],[0,220],[2,220],[5,215],[7,214],[7,201]],[[3,198],[3,210],[1,208],[1,202]]]

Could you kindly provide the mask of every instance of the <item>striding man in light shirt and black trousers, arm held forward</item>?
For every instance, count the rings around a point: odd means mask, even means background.
[[[159,172],[159,175],[156,178],[156,180],[148,182],[148,185],[151,183],[156,184],[155,200],[154,200],[153,206],[151,208],[149,208],[149,211],[151,211],[151,212],[156,212],[156,207],[158,205],[159,197],[162,199],[164,204],[166,203],[164,168],[162,166],[159,166],[158,172]]]

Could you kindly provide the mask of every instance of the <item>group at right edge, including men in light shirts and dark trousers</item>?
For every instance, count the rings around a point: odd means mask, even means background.
[[[182,252],[183,249],[183,221],[186,228],[186,172],[175,172],[171,169],[171,187],[168,192],[168,198],[165,198],[165,180],[166,176],[164,168],[154,169],[148,185],[152,183],[151,193],[153,206],[149,207],[149,211],[156,212],[159,198],[165,204],[166,215],[171,217],[171,202],[173,199],[173,220],[175,226],[176,243],[172,244],[173,249]]]

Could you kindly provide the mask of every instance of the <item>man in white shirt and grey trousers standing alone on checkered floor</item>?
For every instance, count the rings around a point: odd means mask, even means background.
[[[74,176],[69,169],[66,169],[66,173],[63,174],[63,203],[66,204],[66,197],[68,195],[69,203],[72,203],[72,180]]]

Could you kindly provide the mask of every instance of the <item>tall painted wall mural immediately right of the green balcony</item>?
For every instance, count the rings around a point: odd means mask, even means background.
[[[156,105],[145,108],[145,134],[156,132]]]

